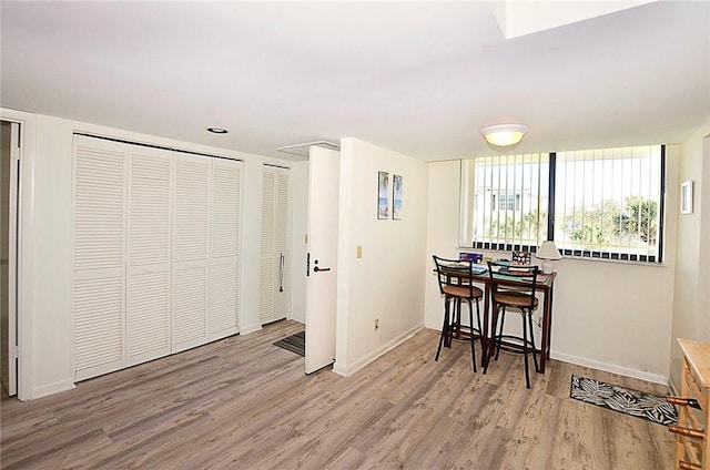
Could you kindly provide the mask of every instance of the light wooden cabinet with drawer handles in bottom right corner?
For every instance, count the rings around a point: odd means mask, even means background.
[[[689,339],[678,339],[678,343],[683,351],[680,398],[687,399],[689,403],[678,406],[678,426],[669,426],[669,430],[678,436],[676,469],[708,470],[710,469],[708,436],[710,344]]]

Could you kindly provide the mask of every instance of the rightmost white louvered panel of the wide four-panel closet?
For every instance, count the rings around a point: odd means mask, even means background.
[[[239,333],[242,162],[212,161],[210,339]]]

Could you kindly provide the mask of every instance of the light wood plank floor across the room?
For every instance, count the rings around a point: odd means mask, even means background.
[[[569,398],[571,374],[666,387],[550,361],[525,388],[523,358],[488,374],[455,341],[434,361],[422,330],[352,377],[303,372],[264,330],[78,385],[1,402],[2,469],[670,469],[665,427]],[[480,357],[480,347],[477,346]]]

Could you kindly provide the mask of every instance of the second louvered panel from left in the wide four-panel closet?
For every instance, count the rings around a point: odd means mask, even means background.
[[[171,181],[173,159],[131,147],[126,366],[171,352]]]

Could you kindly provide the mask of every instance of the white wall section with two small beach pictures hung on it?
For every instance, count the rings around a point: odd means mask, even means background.
[[[402,221],[377,219],[378,171],[389,173],[390,204],[392,176],[403,176]],[[422,161],[352,137],[341,142],[338,374],[358,370],[423,326],[426,175]]]

